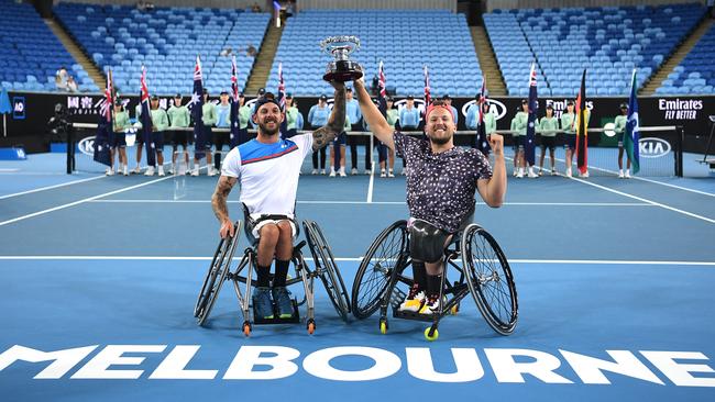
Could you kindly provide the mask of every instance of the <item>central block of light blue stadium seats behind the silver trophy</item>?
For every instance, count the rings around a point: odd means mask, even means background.
[[[439,32],[436,32],[439,30]],[[365,69],[371,85],[380,60],[387,87],[400,96],[421,96],[427,65],[432,96],[472,97],[482,85],[466,20],[447,10],[307,10],[288,20],[267,88],[277,90],[278,63],[286,89],[300,96],[331,93],[322,80],[332,56],[320,51],[327,36],[354,35],[360,51],[351,58]]]

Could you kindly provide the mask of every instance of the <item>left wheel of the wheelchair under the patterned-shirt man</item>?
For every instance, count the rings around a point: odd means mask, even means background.
[[[394,269],[408,258],[407,221],[385,228],[367,249],[352,287],[352,313],[363,320],[380,308]]]

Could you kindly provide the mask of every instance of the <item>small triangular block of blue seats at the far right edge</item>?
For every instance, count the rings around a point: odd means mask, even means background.
[[[673,68],[656,90],[658,94],[705,94],[715,88],[715,25],[700,38],[695,47]]]

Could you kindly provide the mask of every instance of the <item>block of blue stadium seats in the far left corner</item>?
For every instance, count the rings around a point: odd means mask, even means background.
[[[29,3],[0,0],[0,85],[18,91],[54,91],[55,74],[65,66],[80,90],[97,90]]]

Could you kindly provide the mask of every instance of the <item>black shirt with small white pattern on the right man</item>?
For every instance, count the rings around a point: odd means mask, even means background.
[[[407,206],[413,217],[454,233],[474,211],[476,180],[491,179],[488,159],[477,149],[453,147],[432,153],[429,141],[393,134],[407,167]]]

